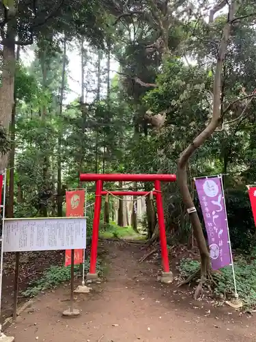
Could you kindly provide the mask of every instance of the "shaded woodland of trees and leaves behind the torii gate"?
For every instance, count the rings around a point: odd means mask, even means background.
[[[236,1],[230,1],[231,6]],[[84,173],[176,173],[180,153],[208,124],[223,28],[231,31],[221,71],[221,118],[214,135],[186,166],[193,177],[225,174],[231,244],[255,250],[246,184],[256,174],[255,2],[1,1],[0,168],[8,168],[8,217],[65,215],[66,189],[84,187]],[[219,12],[221,10],[221,12]],[[210,16],[209,16],[210,13]],[[209,20],[210,19],[210,20]],[[67,47],[81,51],[81,94],[65,101]],[[20,51],[33,51],[25,66]],[[115,77],[111,65],[119,68]],[[14,101],[13,101],[14,100]],[[144,189],[151,184],[108,184]],[[88,187],[94,202],[94,184]],[[177,184],[162,187],[168,243],[194,246]],[[116,209],[102,203],[102,222]],[[89,211],[88,234],[93,212]],[[124,226],[119,202],[118,225]],[[202,219],[202,218],[201,218]],[[147,198],[141,226],[158,239],[156,208]]]

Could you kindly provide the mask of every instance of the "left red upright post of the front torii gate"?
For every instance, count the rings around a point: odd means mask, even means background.
[[[89,274],[87,279],[98,278],[96,274],[96,261],[97,261],[97,250],[98,250],[98,237],[99,237],[99,225],[100,225],[100,207],[101,207],[101,192],[102,192],[102,181],[96,181],[95,191],[95,203],[94,203],[94,222],[92,226],[92,239],[91,239],[91,259]]]

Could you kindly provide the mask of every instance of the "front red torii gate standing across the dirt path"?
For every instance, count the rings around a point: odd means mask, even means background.
[[[103,195],[109,194],[109,192],[103,191],[104,182],[154,182],[154,190],[152,194],[156,197],[156,208],[158,214],[158,226],[160,236],[160,246],[162,254],[162,282],[169,283],[173,280],[172,272],[169,268],[167,239],[165,234],[165,217],[164,209],[162,207],[162,192],[160,182],[175,182],[175,174],[80,174],[80,181],[82,182],[96,182],[95,203],[94,203],[94,222],[92,229],[92,241],[91,241],[91,259],[89,273],[87,274],[87,280],[97,280],[98,274],[96,274],[96,261],[98,250],[98,235],[100,225],[100,209],[101,198]],[[135,191],[116,191],[111,192],[115,196],[143,196],[148,192],[135,192]]]

